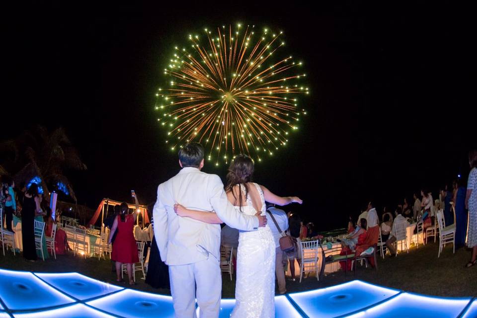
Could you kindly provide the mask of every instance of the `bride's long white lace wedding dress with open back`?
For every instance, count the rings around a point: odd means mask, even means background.
[[[261,215],[266,212],[265,199],[260,186],[253,183],[262,202]],[[252,185],[252,186],[253,186]],[[245,187],[240,184],[245,195]],[[255,215],[250,195],[241,212]],[[235,207],[240,210],[240,207]],[[268,225],[257,231],[240,231],[237,250],[236,305],[231,317],[272,318],[275,317],[275,241]]]

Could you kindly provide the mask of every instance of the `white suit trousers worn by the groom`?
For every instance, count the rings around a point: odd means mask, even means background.
[[[222,296],[219,260],[209,258],[187,265],[169,266],[170,292],[176,318],[196,318],[195,300],[200,318],[218,318]]]

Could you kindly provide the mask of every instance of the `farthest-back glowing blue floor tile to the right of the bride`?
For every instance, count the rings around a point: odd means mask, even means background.
[[[362,281],[290,294],[290,298],[308,317],[348,315],[397,295],[399,291]]]

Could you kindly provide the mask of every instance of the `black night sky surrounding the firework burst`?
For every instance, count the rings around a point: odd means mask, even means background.
[[[88,166],[69,173],[79,203],[127,200],[131,189],[153,202],[178,171],[154,112],[167,80],[160,70],[189,32],[241,22],[283,29],[287,52],[305,61],[312,93],[301,131],[288,152],[255,167],[257,182],[304,200],[287,210],[320,230],[344,227],[370,198],[382,211],[421,186],[436,196],[468,173],[476,145],[471,7],[256,3],[5,10],[1,139],[37,123],[62,126]],[[226,174],[225,166],[204,171]]]

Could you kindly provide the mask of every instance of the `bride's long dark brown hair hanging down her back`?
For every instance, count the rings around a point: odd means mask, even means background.
[[[246,155],[238,155],[230,163],[229,173],[227,173],[227,185],[225,186],[226,192],[232,192],[235,200],[242,204],[242,191],[239,188],[239,197],[233,191],[234,186],[243,184],[245,186],[245,198],[248,195],[247,182],[252,181],[253,174],[253,160]],[[240,208],[241,212],[241,208]]]

